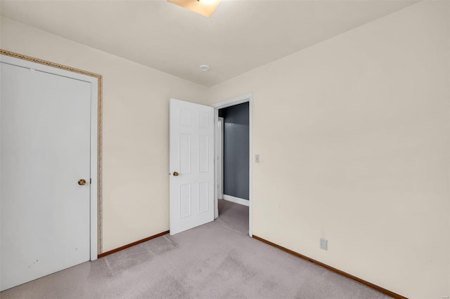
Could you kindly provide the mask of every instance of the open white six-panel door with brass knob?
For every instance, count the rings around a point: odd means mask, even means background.
[[[170,234],[214,220],[214,108],[170,100]]]

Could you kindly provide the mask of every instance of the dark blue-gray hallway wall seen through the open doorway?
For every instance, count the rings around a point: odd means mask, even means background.
[[[249,197],[249,106],[248,102],[219,109],[224,118],[224,194]]]

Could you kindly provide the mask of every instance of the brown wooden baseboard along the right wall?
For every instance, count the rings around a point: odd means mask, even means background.
[[[348,274],[347,272],[343,272],[343,271],[338,270],[338,269],[336,269],[336,268],[334,268],[334,267],[331,267],[331,266],[329,266],[329,265],[326,265],[326,264],[324,264],[324,263],[321,263],[321,262],[319,262],[318,260],[314,260],[314,259],[312,259],[312,258],[308,258],[306,255],[302,255],[302,254],[297,253],[297,252],[295,252],[295,251],[292,251],[292,250],[290,250],[290,249],[288,249],[288,248],[285,248],[285,247],[283,247],[283,246],[280,246],[280,245],[278,245],[278,244],[275,244],[275,243],[273,243],[273,242],[271,242],[271,241],[267,241],[266,239],[262,239],[261,237],[257,237],[257,236],[255,236],[255,234],[252,236],[252,238],[253,238],[253,239],[257,239],[258,241],[261,241],[261,242],[263,242],[263,243],[265,243],[265,244],[269,244],[270,246],[274,246],[274,247],[276,247],[276,248],[278,248],[278,249],[281,249],[282,251],[285,251],[285,252],[290,253],[290,254],[292,254],[292,255],[295,255],[297,258],[302,258],[303,260],[308,260],[308,261],[311,262],[311,263],[314,263],[314,264],[316,264],[316,265],[318,265],[318,266],[320,266],[320,267],[326,268],[326,269],[328,269],[328,270],[330,270],[330,271],[332,271],[332,272],[335,272],[335,273],[337,273],[337,274],[340,274],[340,275],[342,275],[343,277],[347,277],[347,278],[349,278],[349,279],[352,279],[352,280],[354,280],[354,281],[359,282],[360,284],[364,284],[364,285],[366,285],[366,286],[368,286],[368,287],[370,287],[370,288],[373,288],[373,289],[375,289],[376,291],[379,291],[380,293],[384,293],[385,295],[389,295],[389,296],[391,296],[392,298],[396,298],[396,299],[408,299],[408,298],[406,298],[406,297],[404,297],[404,296],[402,296],[402,295],[399,295],[399,294],[397,294],[397,293],[394,293],[394,292],[392,292],[392,291],[389,291],[389,290],[387,290],[386,288],[382,288],[381,286],[377,286],[376,284],[372,284],[371,282],[365,281],[364,279],[360,279],[359,277],[353,276],[352,274]]]

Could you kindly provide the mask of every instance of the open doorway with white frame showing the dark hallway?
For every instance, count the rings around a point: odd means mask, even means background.
[[[252,236],[252,95],[214,105],[214,218]]]

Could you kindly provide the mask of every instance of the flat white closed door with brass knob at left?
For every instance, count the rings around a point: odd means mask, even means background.
[[[0,68],[4,290],[90,258],[91,88],[3,62]]]

